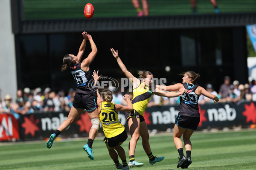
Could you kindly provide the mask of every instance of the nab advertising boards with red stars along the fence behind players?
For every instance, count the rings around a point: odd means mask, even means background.
[[[149,130],[166,131],[174,127],[178,112],[179,105],[146,108],[144,119]],[[199,112],[198,130],[208,127],[249,127],[256,124],[256,102],[244,102],[239,105],[232,102],[205,104],[199,106]],[[0,114],[0,140],[46,139],[67,119],[67,116],[68,112],[33,113],[16,120],[11,114]],[[119,113],[119,121],[129,132],[124,112]],[[88,137],[91,126],[89,116],[84,112],[75,123],[61,133],[61,137]],[[103,133],[102,128],[99,129],[99,133]]]

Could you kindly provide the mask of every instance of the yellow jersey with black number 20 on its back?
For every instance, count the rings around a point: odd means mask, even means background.
[[[116,113],[115,104],[111,102],[102,102],[99,119],[107,138],[112,138],[121,134],[125,127],[119,122],[118,113]]]

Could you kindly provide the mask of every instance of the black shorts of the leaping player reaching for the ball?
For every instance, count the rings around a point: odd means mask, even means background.
[[[93,111],[97,106],[97,98],[88,94],[78,94],[74,96],[73,107]]]

